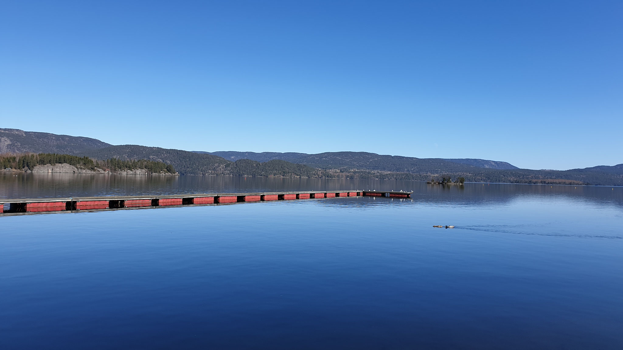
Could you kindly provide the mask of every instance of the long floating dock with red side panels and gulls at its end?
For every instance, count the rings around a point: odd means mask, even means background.
[[[287,201],[331,197],[393,197],[409,198],[413,192],[396,191],[305,191],[222,194],[176,194],[171,196],[105,196],[71,198],[0,199],[0,214],[21,212],[79,211],[93,209],[123,209],[131,207],[191,206],[197,204],[227,204],[237,202]],[[4,209],[4,204],[9,204]]]

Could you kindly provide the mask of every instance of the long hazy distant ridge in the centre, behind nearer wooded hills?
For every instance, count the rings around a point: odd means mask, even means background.
[[[201,152],[208,153],[208,152]],[[264,162],[271,159],[281,159],[292,163],[305,164],[322,169],[366,169],[380,171],[402,171],[417,173],[421,171],[465,171],[469,169],[464,164],[477,168],[487,169],[519,169],[516,166],[500,161],[488,161],[485,159],[440,159],[440,158],[413,158],[403,156],[381,155],[368,152],[325,152],[318,154],[307,153],[278,153],[278,152],[235,152],[217,151],[210,152],[216,156],[236,161],[238,159],[251,159]],[[450,164],[455,163],[455,164]]]

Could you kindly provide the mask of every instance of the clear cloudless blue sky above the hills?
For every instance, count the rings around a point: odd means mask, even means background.
[[[623,1],[3,1],[0,127],[623,163]]]

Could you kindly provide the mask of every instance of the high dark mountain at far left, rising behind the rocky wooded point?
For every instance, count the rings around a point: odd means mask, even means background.
[[[112,144],[94,138],[0,128],[0,153],[76,154],[86,149],[108,146]]]

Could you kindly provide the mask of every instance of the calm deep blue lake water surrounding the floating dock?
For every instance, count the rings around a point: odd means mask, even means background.
[[[0,174],[0,199],[318,189],[415,192],[0,215],[0,349],[623,348],[622,187]]]

